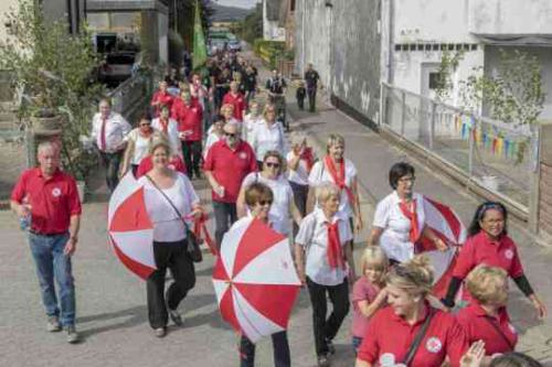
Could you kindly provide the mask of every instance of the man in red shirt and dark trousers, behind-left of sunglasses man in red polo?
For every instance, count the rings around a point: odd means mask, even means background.
[[[192,98],[190,89],[182,88],[180,98],[172,105],[171,117],[178,121],[182,153],[184,156],[188,176],[192,180],[201,179],[201,138],[203,109],[197,98]]]

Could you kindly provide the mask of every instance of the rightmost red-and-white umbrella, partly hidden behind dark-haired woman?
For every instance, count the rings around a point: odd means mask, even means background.
[[[417,252],[424,252],[432,261],[435,274],[434,295],[445,295],[456,263],[458,246],[466,241],[467,230],[460,217],[448,206],[424,196],[425,225],[448,246],[447,251],[437,251],[433,242],[422,238],[416,244]]]

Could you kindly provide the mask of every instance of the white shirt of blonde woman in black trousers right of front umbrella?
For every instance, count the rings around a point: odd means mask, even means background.
[[[295,238],[295,242],[305,248],[307,277],[321,285],[341,284],[347,277],[347,267],[346,269],[331,269],[328,263],[328,227],[326,223],[335,224],[338,220],[340,245],[343,247],[353,238],[349,220],[335,215],[329,222],[320,208],[316,208],[302,218],[299,233]]]

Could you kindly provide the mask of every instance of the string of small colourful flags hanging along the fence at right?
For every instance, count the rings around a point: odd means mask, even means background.
[[[521,149],[521,141],[496,131],[495,127],[482,128],[473,116],[456,115],[455,129],[463,140],[468,140],[471,134],[474,142],[496,156],[516,159]]]

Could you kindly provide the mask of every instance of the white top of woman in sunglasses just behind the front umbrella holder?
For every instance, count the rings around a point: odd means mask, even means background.
[[[258,172],[252,172],[245,176],[242,187],[247,187],[255,182],[261,182],[273,191],[274,202],[268,213],[268,220],[273,224],[274,230],[287,236],[291,230],[289,213],[289,206],[294,199],[291,186],[282,175],[277,180],[268,180]]]

